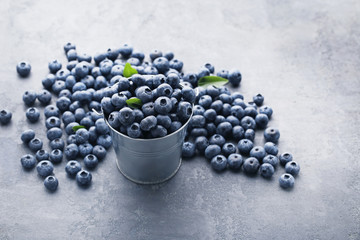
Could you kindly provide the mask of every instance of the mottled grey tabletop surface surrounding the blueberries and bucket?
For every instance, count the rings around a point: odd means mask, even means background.
[[[360,2],[10,1],[0,6],[0,239],[360,239]],[[170,181],[136,185],[111,150],[81,189],[55,167],[58,190],[25,172],[20,133],[46,139],[44,116],[30,124],[25,90],[40,90],[63,45],[94,54],[130,43],[173,51],[184,70],[211,62],[238,68],[239,90],[274,109],[279,148],[301,165],[292,191],[242,172],[217,174],[202,157]],[[32,64],[21,79],[16,64]],[[43,112],[43,108],[41,108]],[[256,144],[263,144],[261,132]],[[48,148],[45,142],[46,149]]]

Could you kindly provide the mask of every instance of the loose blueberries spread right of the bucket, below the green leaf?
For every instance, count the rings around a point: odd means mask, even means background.
[[[223,77],[228,78],[226,74]],[[239,92],[231,93],[226,87],[198,87],[194,116],[187,128],[188,141],[183,144],[183,157],[193,157],[196,151],[211,161],[216,171],[226,168],[247,174],[271,178],[279,163],[286,173],[279,179],[280,186],[290,188],[300,167],[292,161],[290,153],[277,157],[276,143],[280,138],[278,129],[268,127],[273,110],[262,106],[264,97],[257,94],[246,103]],[[254,146],[255,130],[264,130],[266,143]],[[247,156],[247,159],[244,159]]]

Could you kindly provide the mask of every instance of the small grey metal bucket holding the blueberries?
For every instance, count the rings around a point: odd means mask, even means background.
[[[172,178],[181,166],[181,151],[189,120],[176,132],[154,139],[130,138],[110,128],[116,164],[129,180],[139,184],[157,184]]]

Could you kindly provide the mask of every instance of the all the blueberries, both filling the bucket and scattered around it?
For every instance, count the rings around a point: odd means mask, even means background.
[[[51,61],[50,73],[42,81],[44,89],[28,90],[23,95],[29,107],[26,117],[30,123],[40,117],[40,111],[34,107],[36,100],[45,107],[45,126],[52,151],[43,149],[43,142],[35,137],[33,130],[26,130],[21,139],[35,156],[24,155],[21,164],[25,169],[36,166],[38,174],[45,178],[47,189],[57,189],[54,165],[62,162],[64,156],[69,160],[65,167],[67,174],[81,186],[91,183],[91,170],[105,158],[112,145],[110,129],[96,112],[102,112],[114,130],[131,138],[164,137],[189,121],[183,157],[193,157],[197,151],[211,160],[217,171],[242,167],[246,173],[255,174],[260,169],[260,174],[267,178],[273,175],[280,159],[287,172],[281,176],[280,185],[285,188],[294,185],[293,176],[299,172],[299,165],[292,161],[290,153],[277,157],[275,144],[280,133],[267,128],[272,109],[260,107],[264,101],[260,94],[253,102],[246,103],[240,93],[230,93],[226,87],[199,87],[202,77],[215,76],[211,64],[184,74],[183,62],[175,59],[172,52],[163,54],[155,50],[149,55],[150,61],[144,61],[145,55],[127,44],[93,58],[79,54],[71,43],[64,50],[68,59],[66,68],[58,60]],[[128,64],[136,70],[130,78],[125,77]],[[21,62],[16,69],[21,77],[26,77],[31,67]],[[234,87],[241,82],[241,73],[235,69],[221,70],[216,76],[228,79]],[[57,99],[52,105],[53,95]],[[11,113],[0,112],[2,124],[10,119]],[[253,146],[255,129],[265,129],[264,147]],[[64,130],[66,142],[62,139]],[[249,158],[244,161],[243,156]]]

